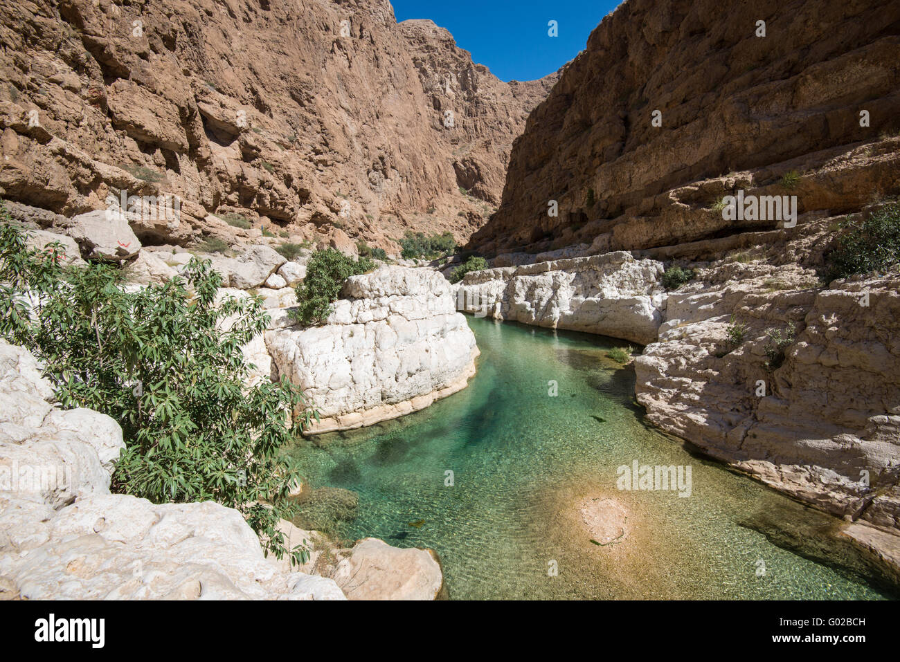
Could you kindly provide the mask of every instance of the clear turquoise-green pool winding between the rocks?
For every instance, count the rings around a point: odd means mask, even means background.
[[[482,355],[468,388],[292,449],[313,487],[359,495],[356,519],[330,533],[437,550],[451,598],[884,597],[742,526],[797,506],[645,425],[634,372],[604,355],[621,341],[469,324]],[[690,496],[617,489],[617,468],[635,460],[689,466]],[[598,497],[628,513],[613,544],[591,542],[581,518]]]

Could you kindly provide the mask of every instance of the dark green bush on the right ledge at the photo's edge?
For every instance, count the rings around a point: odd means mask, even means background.
[[[867,219],[848,219],[841,228],[846,231],[825,255],[829,280],[887,271],[900,262],[900,205],[888,205]]]

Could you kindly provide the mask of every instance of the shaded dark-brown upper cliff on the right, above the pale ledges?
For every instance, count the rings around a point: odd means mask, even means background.
[[[698,213],[735,184],[704,180],[776,183],[900,129],[898,21],[889,0],[629,0],[528,118],[500,210],[471,245],[630,250],[742,229]],[[797,192],[799,213],[857,210],[873,190]]]

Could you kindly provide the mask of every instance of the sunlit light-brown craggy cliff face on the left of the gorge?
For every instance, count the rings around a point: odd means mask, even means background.
[[[0,196],[70,216],[178,195],[188,225],[136,228],[151,243],[219,236],[211,213],[464,240],[555,79],[503,83],[386,0],[0,0],[0,40]]]

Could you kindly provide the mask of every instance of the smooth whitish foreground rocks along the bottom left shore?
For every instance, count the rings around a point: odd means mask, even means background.
[[[351,548],[282,521],[292,568],[266,558],[238,511],[110,493],[121,428],[62,410],[27,350],[0,340],[0,599],[435,599],[431,550],[367,538]],[[8,484],[7,484],[8,483]],[[323,559],[329,559],[325,562]]]

